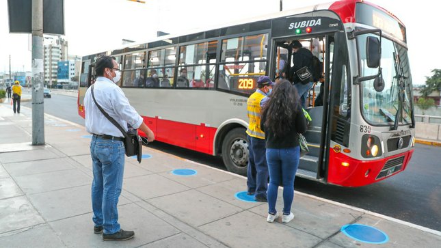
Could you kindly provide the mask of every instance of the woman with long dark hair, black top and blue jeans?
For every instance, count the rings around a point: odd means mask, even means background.
[[[260,127],[265,131],[269,170],[268,222],[278,219],[276,200],[280,182],[283,183],[282,222],[294,219],[291,204],[294,198],[294,178],[299,166],[299,133],[305,133],[306,118],[299,102],[297,89],[287,80],[281,80],[273,89],[262,111]]]

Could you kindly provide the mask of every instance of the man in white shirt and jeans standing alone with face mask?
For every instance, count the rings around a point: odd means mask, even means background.
[[[113,119],[127,130],[127,124],[142,130],[148,141],[155,135],[143,122],[142,117],[131,107],[122,89],[116,85],[121,72],[114,57],[102,56],[96,59],[96,81],[94,96]],[[118,223],[118,198],[122,189],[124,173],[124,135],[96,107],[91,88],[85,93],[85,128],[91,133],[90,154],[92,156],[94,179],[92,181],[92,209],[94,211],[94,233],[103,233],[103,240],[128,240],[135,236],[133,231],[124,231]]]

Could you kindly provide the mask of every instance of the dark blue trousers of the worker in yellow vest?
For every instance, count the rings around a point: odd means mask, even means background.
[[[250,157],[248,158],[248,192],[256,192],[256,197],[267,197],[268,165],[265,158],[265,139],[248,136]]]

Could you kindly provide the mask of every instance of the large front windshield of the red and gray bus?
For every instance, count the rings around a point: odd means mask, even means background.
[[[360,77],[377,74],[378,68],[369,68],[366,62],[366,34],[358,36],[360,54]],[[378,36],[377,36],[378,37]],[[379,37],[378,37],[379,38]],[[361,106],[364,119],[373,125],[393,125],[412,123],[412,79],[407,58],[407,49],[403,46],[382,38],[382,79],[384,89],[375,90],[374,79],[362,81]],[[402,85],[402,87],[400,87]],[[400,106],[401,105],[401,106]],[[401,111],[400,111],[401,110]],[[397,114],[397,112],[401,112]]]

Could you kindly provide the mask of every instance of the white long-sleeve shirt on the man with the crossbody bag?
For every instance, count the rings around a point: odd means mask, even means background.
[[[121,131],[107,120],[100,109],[96,107],[91,88],[89,87],[85,92],[84,97],[85,130],[96,135],[124,137]],[[98,77],[94,83],[94,96],[103,110],[115,119],[125,131],[127,131],[127,123],[133,128],[141,126],[142,117],[131,107],[122,89],[113,81],[105,77]]]

